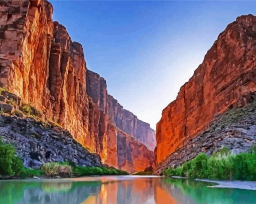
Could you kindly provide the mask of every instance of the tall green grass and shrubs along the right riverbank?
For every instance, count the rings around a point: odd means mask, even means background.
[[[254,148],[254,147],[253,147]],[[256,153],[231,154],[222,148],[212,156],[199,153],[180,167],[165,169],[168,176],[186,176],[220,180],[256,180]]]

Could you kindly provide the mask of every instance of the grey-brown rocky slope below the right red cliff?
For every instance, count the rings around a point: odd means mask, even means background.
[[[200,152],[212,154],[221,147],[229,148],[231,153],[249,150],[256,144],[256,93],[253,98],[242,108],[233,107],[216,115],[195,138],[185,138],[184,145],[158,163],[154,173],[160,174],[167,166],[180,165]]]

